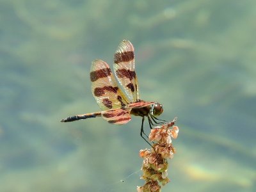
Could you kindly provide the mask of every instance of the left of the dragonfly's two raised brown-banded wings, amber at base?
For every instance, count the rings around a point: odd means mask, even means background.
[[[102,60],[92,62],[90,79],[92,81],[92,94],[103,110],[125,108],[127,97],[118,88],[115,78],[108,66]]]

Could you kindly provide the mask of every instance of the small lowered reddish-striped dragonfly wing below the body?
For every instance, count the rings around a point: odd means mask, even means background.
[[[131,120],[130,112],[125,109],[111,109],[101,112],[102,118],[110,124],[122,125]]]

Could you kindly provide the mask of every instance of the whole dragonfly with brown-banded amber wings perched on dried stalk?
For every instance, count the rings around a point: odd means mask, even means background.
[[[61,122],[101,116],[110,124],[122,125],[131,120],[131,115],[141,116],[140,136],[147,141],[143,137],[143,135],[147,136],[143,129],[145,117],[148,119],[150,129],[153,129],[152,125],[164,124],[166,121],[157,118],[163,113],[162,104],[147,102],[139,97],[138,78],[134,70],[134,47],[129,40],[122,40],[118,45],[114,54],[113,68],[117,81],[108,63],[102,60],[92,62],[90,70],[92,94],[102,111],[68,116]]]

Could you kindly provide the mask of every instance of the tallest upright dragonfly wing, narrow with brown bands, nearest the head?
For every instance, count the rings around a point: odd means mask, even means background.
[[[114,72],[130,102],[139,100],[138,79],[134,68],[134,47],[128,40],[123,40],[114,55]]]

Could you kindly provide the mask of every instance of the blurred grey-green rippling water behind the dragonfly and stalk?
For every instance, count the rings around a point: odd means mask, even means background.
[[[0,1],[0,191],[136,191],[141,118],[99,111],[90,65],[135,47],[140,97],[178,116],[163,191],[256,191],[256,3]],[[146,124],[145,129],[148,130]],[[119,182],[119,180],[124,182]]]

